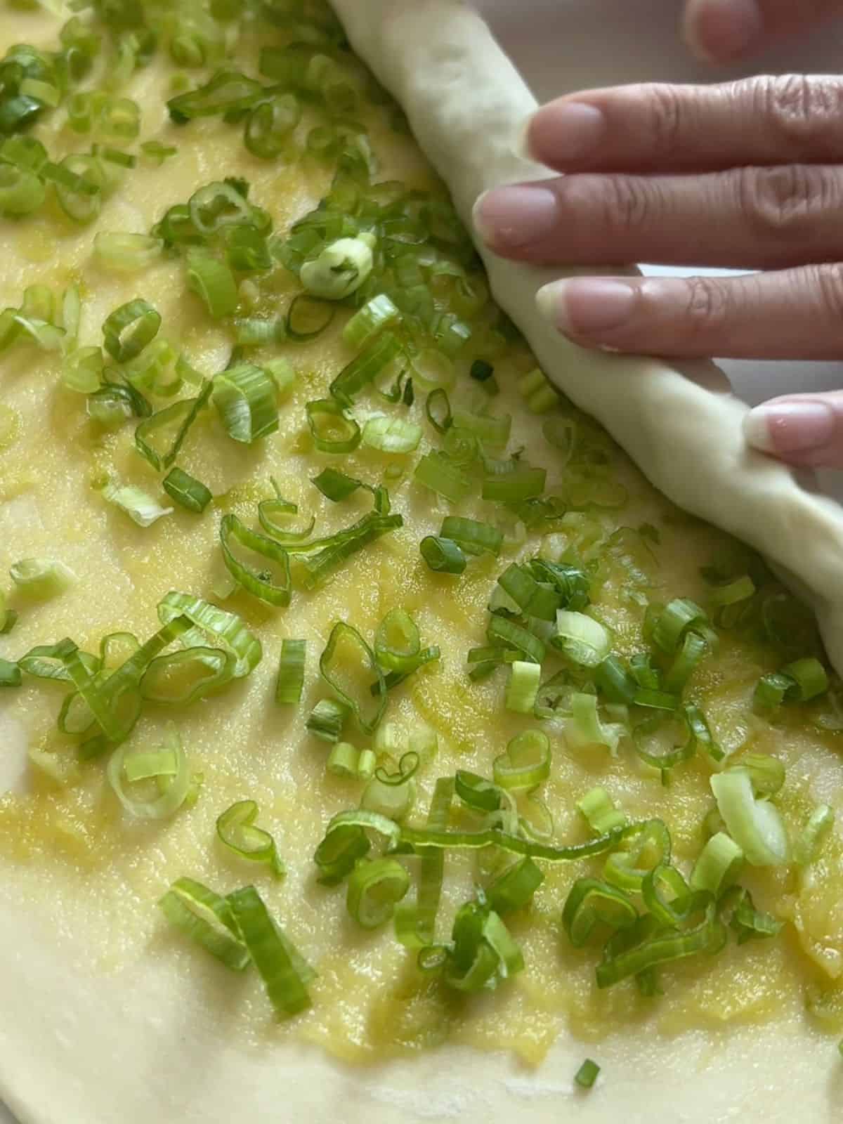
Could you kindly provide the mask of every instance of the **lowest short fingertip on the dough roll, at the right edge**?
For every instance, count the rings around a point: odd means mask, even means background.
[[[788,395],[744,418],[747,444],[800,468],[843,469],[843,390]]]

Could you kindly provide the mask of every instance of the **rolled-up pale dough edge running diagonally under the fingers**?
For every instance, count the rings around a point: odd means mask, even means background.
[[[515,152],[535,99],[461,0],[332,2],[356,53],[401,103],[469,227],[483,191],[546,175]],[[747,407],[713,363],[668,365],[586,351],[561,336],[540,314],[535,293],[577,271],[522,265],[478,248],[496,300],[553,382],[665,496],[774,564],[814,606],[828,655],[843,673],[843,511],[818,495],[813,473],[747,447]]]

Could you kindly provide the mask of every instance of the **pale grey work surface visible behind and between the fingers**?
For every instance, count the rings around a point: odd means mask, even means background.
[[[478,0],[478,4],[527,75],[540,101],[618,82],[713,81],[741,73],[713,72],[689,57],[677,34],[679,0]],[[840,71],[841,62],[843,22],[831,29],[826,27],[798,45],[768,54],[755,61],[753,70],[827,73]],[[753,404],[791,390],[843,388],[843,362],[724,363],[723,366],[736,391]],[[48,1073],[44,1080],[49,1080]],[[15,1124],[2,1105],[0,1124]]]

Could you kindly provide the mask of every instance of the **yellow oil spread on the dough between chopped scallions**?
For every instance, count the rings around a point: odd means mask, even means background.
[[[56,26],[48,15],[6,11],[0,48],[15,42],[49,43]],[[219,120],[175,129],[164,109],[171,78],[172,67],[156,63],[133,80],[127,93],[143,108],[142,137],[172,142],[178,155],[161,167],[142,161],[125,175],[92,227],[74,227],[54,205],[37,218],[3,221],[0,305],[18,305],[24,288],[34,282],[56,291],[74,282],[84,299],[82,341],[94,343],[111,309],[143,296],[161,311],[166,337],[210,373],[225,364],[230,342],[198,299],[187,293],[182,263],[163,260],[137,275],[107,273],[92,257],[94,234],[146,233],[166,207],[225,175],[248,180],[252,200],[266,208],[277,229],[284,232],[325,193],[330,171],[308,158],[255,160],[243,147],[241,130]],[[63,116],[52,115],[40,129],[57,153],[80,147],[62,127]],[[383,179],[400,179],[420,189],[435,187],[411,138],[390,130],[377,109],[369,111],[366,125]],[[281,308],[297,284],[278,269],[264,282],[266,291]],[[257,671],[182,713],[147,707],[133,735],[133,744],[156,744],[164,722],[175,718],[192,768],[203,774],[196,805],[170,821],[130,822],[109,789],[101,763],[76,762],[73,746],[55,728],[61,685],[26,679],[19,690],[6,691],[0,699],[0,720],[8,724],[3,728],[20,724],[36,753],[29,768],[20,763],[21,776],[0,797],[3,879],[20,886],[22,901],[49,901],[60,918],[55,940],[66,940],[103,971],[119,972],[146,955],[173,957],[189,978],[196,958],[203,953],[167,931],[156,900],[182,874],[221,891],[255,879],[318,971],[311,986],[312,1009],[279,1026],[271,1019],[260,982],[232,982],[220,968],[219,986],[208,995],[209,1017],[225,1017],[239,1037],[303,1035],[352,1062],[445,1040],[506,1048],[537,1062],[564,1028],[598,1040],[623,1026],[633,1034],[671,1035],[732,1023],[786,1024],[805,1017],[806,996],[813,996],[815,1006],[824,1005],[826,1022],[834,1024],[840,1007],[835,980],[843,973],[843,864],[837,839],[805,873],[751,872],[746,885],[756,905],[788,922],[779,939],[741,946],[731,941],[715,958],[668,968],[660,977],[664,995],[658,998],[641,997],[633,984],[598,991],[593,950],[572,950],[563,937],[560,914],[566,889],[575,877],[599,872],[599,860],[546,868],[532,907],[513,923],[526,970],[493,994],[471,997],[420,977],[414,954],[395,941],[391,926],[362,932],[345,910],[344,889],[317,885],[312,853],[325,824],[360,799],[360,785],[326,773],[326,747],[307,736],[303,726],[309,707],[324,694],[317,656],[334,622],[347,620],[371,638],[383,615],[400,607],[417,620],[423,643],[442,649],[442,660],[398,691],[388,711],[388,719],[406,732],[422,723],[438,735],[438,755],[418,777],[415,815],[424,817],[436,777],[456,768],[490,774],[507,740],[529,725],[504,709],[500,676],[473,685],[464,661],[470,647],[484,642],[489,595],[507,558],[525,559],[543,549],[541,533],[529,533],[501,560],[472,561],[460,578],[436,575],[422,561],[418,542],[436,533],[442,516],[452,513],[413,482],[418,454],[386,456],[361,447],[337,461],[312,448],[305,404],[324,397],[352,357],[339,334],[346,318],[343,311],[312,344],[283,348],[298,378],[281,406],[280,430],[270,439],[252,447],[235,444],[226,438],[216,413],[205,411],[180,463],[210,488],[215,504],[203,517],[176,509],[147,529],[107,506],[92,487],[110,472],[158,495],[155,474],[135,452],[133,427],[103,434],[90,423],[82,399],[60,384],[58,356],[19,348],[0,360],[0,572],[20,558],[48,556],[66,563],[78,577],[60,599],[21,610],[13,633],[0,637],[0,655],[6,658],[63,636],[90,651],[97,651],[100,637],[110,632],[130,631],[144,638],[156,627],[156,605],[167,590],[209,596],[220,573],[220,515],[235,511],[251,524],[256,500],[272,495],[271,477],[284,497],[298,502],[302,513],[315,513],[321,533],[328,533],[351,522],[366,504],[355,499],[329,505],[311,478],[328,464],[370,481],[384,478],[389,470],[393,508],[405,516],[402,529],[350,559],[326,588],[296,592],[288,609],[269,609],[242,593],[226,601],[263,643],[265,654]],[[524,446],[531,463],[544,465],[553,491],[564,483],[564,460],[543,436],[543,419],[525,409],[515,386],[532,366],[532,356],[520,345],[496,360],[501,393],[492,408],[496,414],[513,414],[510,448]],[[462,386],[466,383],[463,378]],[[573,416],[570,410],[568,415]],[[408,416],[424,420],[420,401]],[[564,416],[563,408],[552,416]],[[581,418],[578,424],[588,425]],[[426,425],[419,453],[435,447],[428,442],[433,437]],[[608,438],[597,434],[596,439],[629,495],[622,509],[599,518],[608,527],[650,524],[659,531],[659,545],[651,544],[647,593],[662,601],[682,596],[706,604],[699,566],[723,550],[723,536],[672,508]],[[479,499],[469,499],[454,514],[484,519],[493,511]],[[616,629],[622,653],[641,644],[642,614],[627,591],[628,574],[618,564],[610,568],[596,604],[600,618]],[[272,698],[283,637],[308,641],[300,707],[279,708]],[[689,696],[705,709],[735,759],[753,752],[782,760],[787,783],[780,804],[797,832],[817,799],[835,803],[843,769],[835,735],[824,733],[815,720],[826,704],[796,708],[776,725],[753,715],[753,686],[760,674],[774,669],[772,661],[769,652],[749,641],[725,640],[717,656],[695,674]],[[360,747],[369,744],[354,732],[350,736]],[[16,752],[22,756],[20,746]],[[555,732],[543,798],[554,817],[555,837],[582,840],[587,828],[574,803],[589,788],[602,785],[631,818],[664,819],[676,859],[687,872],[704,842],[703,819],[713,807],[709,774],[710,764],[698,756],[676,769],[671,783],[662,787],[658,776],[636,765],[628,746],[615,759],[600,746],[572,750]],[[289,870],[283,881],[263,870],[244,869],[216,842],[216,817],[243,798],[257,801],[261,824],[275,836]],[[470,891],[473,863],[465,855],[447,854],[443,936],[453,910]]]

